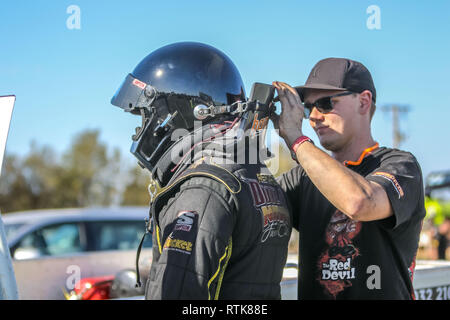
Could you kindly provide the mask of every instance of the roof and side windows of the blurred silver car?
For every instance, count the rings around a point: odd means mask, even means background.
[[[35,210],[4,214],[15,260],[131,250],[145,232],[146,207]],[[145,242],[151,247],[151,237]]]

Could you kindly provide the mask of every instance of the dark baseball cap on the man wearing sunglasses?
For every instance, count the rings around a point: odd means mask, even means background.
[[[344,58],[327,58],[320,60],[306,80],[305,85],[295,87],[302,101],[304,89],[322,89],[372,92],[372,100],[377,99],[377,91],[369,70],[360,62]]]

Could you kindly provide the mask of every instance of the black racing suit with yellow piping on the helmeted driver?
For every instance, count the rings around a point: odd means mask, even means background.
[[[146,299],[281,298],[292,222],[263,165],[202,158],[171,179],[151,212]]]

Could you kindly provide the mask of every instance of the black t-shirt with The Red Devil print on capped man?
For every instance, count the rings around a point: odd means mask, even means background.
[[[425,216],[419,164],[411,153],[383,147],[347,167],[384,187],[394,215],[351,220],[301,166],[283,174],[279,183],[300,235],[299,299],[414,299],[415,256]]]

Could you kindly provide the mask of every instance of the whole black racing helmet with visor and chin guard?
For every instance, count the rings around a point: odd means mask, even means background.
[[[174,129],[192,130],[196,106],[231,105],[246,100],[238,69],[220,50],[197,42],[174,43],[155,50],[128,74],[111,103],[143,123],[131,152],[151,172],[170,146]],[[203,123],[214,120],[206,117]]]

